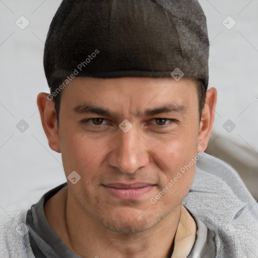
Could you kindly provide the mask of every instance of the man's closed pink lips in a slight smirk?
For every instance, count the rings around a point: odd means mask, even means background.
[[[137,182],[131,184],[109,183],[103,184],[109,194],[115,198],[122,200],[136,200],[150,192],[155,185],[145,182]]]

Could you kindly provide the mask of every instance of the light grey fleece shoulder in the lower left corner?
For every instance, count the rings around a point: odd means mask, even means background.
[[[0,216],[0,257],[34,258],[26,226],[27,210],[13,210]]]

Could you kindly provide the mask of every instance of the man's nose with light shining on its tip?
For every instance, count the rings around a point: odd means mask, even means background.
[[[117,167],[122,173],[132,174],[149,163],[149,149],[134,126],[127,133],[120,130],[112,145],[108,163],[112,167]]]

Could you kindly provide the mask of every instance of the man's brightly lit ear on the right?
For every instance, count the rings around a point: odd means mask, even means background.
[[[217,90],[215,88],[208,89],[199,127],[197,152],[204,152],[207,148],[215,117],[216,102]]]

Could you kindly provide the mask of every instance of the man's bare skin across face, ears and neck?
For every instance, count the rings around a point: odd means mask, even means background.
[[[81,257],[167,257],[196,163],[155,204],[150,199],[205,151],[216,89],[207,90],[201,122],[197,84],[190,79],[75,78],[61,94],[59,127],[48,94],[40,93],[37,104],[48,144],[61,153],[66,177],[76,171],[81,179],[76,184],[68,180],[68,187],[45,204],[50,226]],[[74,111],[85,103],[117,114]],[[145,109],[171,103],[184,109],[144,115]],[[98,117],[103,120],[85,120]],[[133,125],[127,133],[119,128],[124,119]],[[117,198],[105,187],[139,181],[152,186],[132,200]]]

